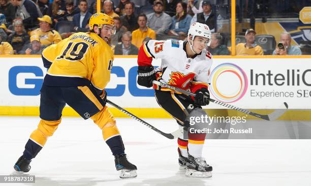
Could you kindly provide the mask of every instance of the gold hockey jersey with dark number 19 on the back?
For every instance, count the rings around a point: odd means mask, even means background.
[[[42,55],[53,60],[44,79],[46,85],[82,86],[90,81],[102,90],[110,81],[113,53],[95,33],[76,33],[49,46]]]

